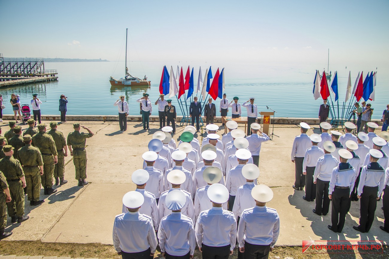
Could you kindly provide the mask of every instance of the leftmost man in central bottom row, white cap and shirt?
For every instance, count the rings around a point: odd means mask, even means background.
[[[144,197],[137,191],[123,196],[128,212],[115,217],[112,239],[115,250],[123,259],[150,259],[158,245],[151,217],[140,214]],[[136,233],[136,235],[134,235]]]

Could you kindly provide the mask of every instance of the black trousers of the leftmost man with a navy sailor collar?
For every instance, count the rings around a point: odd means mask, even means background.
[[[335,188],[332,193],[332,211],[331,222],[332,231],[342,232],[344,222],[346,221],[346,214],[349,212],[350,188],[338,189]]]

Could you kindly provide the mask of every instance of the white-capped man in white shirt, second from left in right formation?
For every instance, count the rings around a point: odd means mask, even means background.
[[[303,174],[305,175],[305,196],[307,202],[313,202],[316,198],[316,184],[313,182],[315,167],[319,158],[324,156],[324,151],[317,146],[321,141],[319,134],[312,134],[310,137],[312,147],[305,152],[303,161]]]

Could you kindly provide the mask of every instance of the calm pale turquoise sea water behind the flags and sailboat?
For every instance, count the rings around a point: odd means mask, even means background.
[[[131,62],[129,69],[131,74],[143,78],[146,74],[151,80],[151,87],[111,87],[109,77],[121,78],[124,75],[124,62],[80,62],[80,63],[46,63],[46,69],[58,70],[58,82],[35,83],[8,88],[1,88],[0,93],[5,101],[6,108],[3,114],[12,114],[9,99],[11,93],[21,96],[21,103],[30,103],[32,94],[37,93],[43,102],[42,114],[56,115],[58,100],[61,94],[68,97],[69,115],[116,115],[117,107],[113,103],[120,95],[126,96],[130,105],[130,114],[139,114],[139,104],[136,100],[142,97],[143,92],[150,94],[152,103],[158,99],[159,81],[163,63],[137,63]],[[253,64],[215,64],[212,66],[213,75],[217,65],[224,66],[225,85],[227,99],[230,101],[234,96],[239,97],[242,104],[250,97],[255,97],[258,111],[277,111],[278,117],[317,117],[321,98],[314,100],[312,94],[315,68],[291,68],[287,66],[259,66]],[[170,72],[170,65],[166,64]],[[181,66],[181,64],[180,64]],[[183,64],[184,74],[188,64]],[[202,74],[209,65],[202,65]],[[197,85],[199,66],[195,66],[194,78]],[[176,73],[177,64],[173,65]],[[338,84],[340,105],[345,99],[345,91],[349,71],[338,71]],[[389,103],[389,78],[377,74],[376,99],[371,102],[375,108],[373,118],[380,118],[382,111]],[[351,73],[352,86],[357,72]],[[364,76],[366,74],[364,73]],[[197,94],[200,96],[200,92]],[[334,96],[333,96],[333,100]],[[214,101],[218,111],[220,99]],[[348,102],[347,102],[348,103]],[[178,114],[181,111],[177,105],[177,99],[173,98],[173,105],[177,106]],[[189,105],[189,101],[188,101]],[[189,109],[189,108],[188,108]],[[153,115],[157,115],[158,108],[153,107]],[[219,115],[219,114],[218,114]],[[246,116],[246,109],[242,109],[242,116]],[[231,116],[231,111],[229,112]]]

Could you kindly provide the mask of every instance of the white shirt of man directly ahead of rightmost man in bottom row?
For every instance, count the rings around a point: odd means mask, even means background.
[[[256,182],[256,180],[254,181]],[[244,210],[255,207],[255,200],[251,196],[251,190],[254,186],[254,182],[246,182],[246,184],[238,187],[234,207],[232,208],[232,212],[237,219]]]

